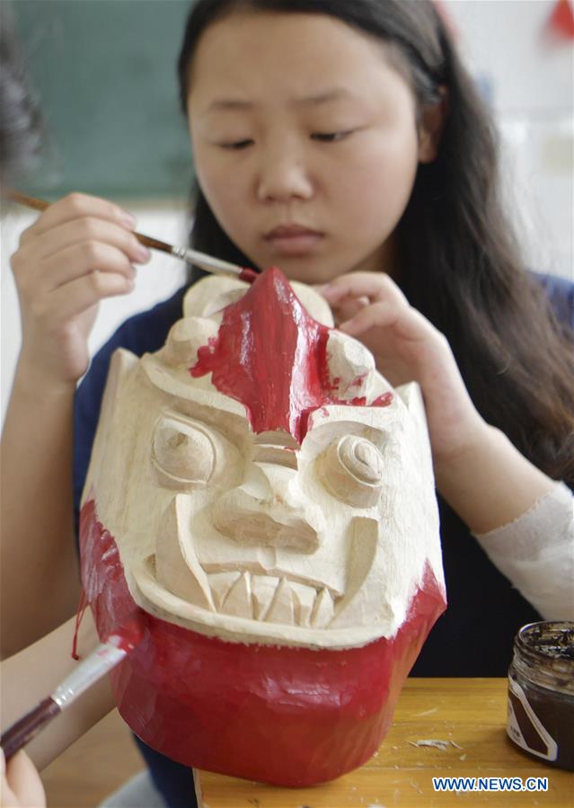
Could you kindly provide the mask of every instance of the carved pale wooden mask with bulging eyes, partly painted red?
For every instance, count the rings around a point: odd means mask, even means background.
[[[318,649],[349,652],[358,665],[380,641],[385,670],[400,669],[400,688],[445,605],[419,387],[393,390],[362,343],[332,327],[322,297],[277,270],[251,288],[202,280],[187,293],[183,314],[161,351],[141,360],[119,351],[112,360],[82,533],[84,587],[102,634],[121,612],[119,601],[102,605],[110,572],[94,536],[102,547],[103,530],[127,582],[122,598],[154,616],[154,625],[181,627],[190,643],[203,637],[204,651],[207,637],[227,651],[269,646],[266,653],[280,656],[283,649],[284,666],[287,650],[300,652],[293,657],[300,662],[311,649],[315,670],[324,661]],[[429,598],[424,608],[421,592]],[[197,644],[194,653],[201,655]],[[178,670],[175,678],[182,676]],[[132,670],[132,682],[140,678]],[[153,679],[152,689],[166,686]],[[398,695],[385,681],[379,724]],[[141,722],[134,727],[134,715],[127,720],[138,734],[183,762],[286,785],[295,785],[287,769],[302,783],[358,765],[374,738],[371,729],[368,742],[355,740],[358,752],[333,763],[331,751],[329,765],[315,761],[310,771],[308,761],[304,768],[287,762],[283,750],[280,772],[269,775],[269,760],[229,768],[228,750],[224,768],[206,763],[198,750],[188,754],[189,743],[182,751],[165,733],[158,741]],[[252,759],[261,762],[258,749]]]

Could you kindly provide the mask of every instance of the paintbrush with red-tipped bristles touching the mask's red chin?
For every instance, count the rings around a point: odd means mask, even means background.
[[[0,746],[4,750],[5,759],[11,759],[50,721],[73,704],[85,690],[119,665],[119,662],[137,647],[143,635],[144,621],[139,613],[134,612],[120,628],[112,631],[105,643],[99,644],[92,653],[79,662],[53,693],[42,699],[39,705],[33,707],[3,733]]]

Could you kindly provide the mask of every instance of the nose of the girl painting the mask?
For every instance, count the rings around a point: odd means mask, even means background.
[[[261,202],[309,200],[312,196],[312,177],[298,155],[285,150],[261,161],[257,181],[257,197]]]

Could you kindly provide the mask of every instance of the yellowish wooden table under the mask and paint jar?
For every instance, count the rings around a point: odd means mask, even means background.
[[[287,789],[198,773],[205,808],[574,805],[574,775],[522,754],[506,736],[507,679],[409,679],[393,727],[365,766]],[[436,746],[420,741],[446,741]],[[432,777],[547,777],[548,791],[435,792]]]

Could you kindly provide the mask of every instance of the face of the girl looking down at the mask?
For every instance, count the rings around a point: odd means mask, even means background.
[[[306,283],[392,271],[426,158],[380,41],[322,14],[234,13],[203,34],[191,71],[199,182],[254,264]]]

